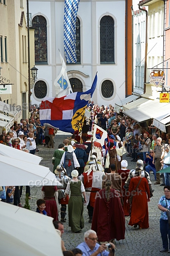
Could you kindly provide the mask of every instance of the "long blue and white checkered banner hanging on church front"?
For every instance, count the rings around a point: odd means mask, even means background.
[[[65,0],[64,51],[67,63],[76,63],[76,17],[79,0]]]

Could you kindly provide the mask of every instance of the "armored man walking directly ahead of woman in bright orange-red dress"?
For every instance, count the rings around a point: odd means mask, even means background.
[[[136,162],[136,168],[140,168],[141,169],[141,177],[145,177],[147,179],[149,189],[150,189],[150,192],[151,192],[150,194],[152,195],[154,190],[152,189],[152,183],[151,183],[151,180],[150,180],[150,176],[149,176],[148,172],[144,171],[144,169],[143,169],[144,164],[143,164],[143,161],[141,159]],[[130,170],[129,175],[127,177],[127,180],[125,181],[125,186],[124,186],[125,189],[128,190],[131,178],[135,177],[135,172],[136,171],[134,169]]]

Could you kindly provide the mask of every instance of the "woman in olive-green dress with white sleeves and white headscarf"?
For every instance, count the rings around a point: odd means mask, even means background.
[[[85,187],[82,181],[77,179],[78,175],[77,170],[71,172],[73,178],[68,182],[67,188],[65,189],[65,198],[67,198],[67,195],[71,191],[68,201],[68,226],[71,227],[71,231],[74,233],[80,233],[84,227],[82,194],[86,203]],[[64,201],[65,198],[63,198]]]

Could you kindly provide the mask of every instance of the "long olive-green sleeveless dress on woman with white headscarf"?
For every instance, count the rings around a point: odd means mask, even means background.
[[[75,233],[82,230],[84,227],[81,181],[70,181],[70,190],[71,196],[68,201],[68,226],[71,227],[71,231]]]

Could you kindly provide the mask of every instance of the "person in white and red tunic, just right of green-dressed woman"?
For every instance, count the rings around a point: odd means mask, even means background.
[[[82,182],[85,186],[87,199],[86,205],[89,215],[88,222],[92,223],[96,192],[102,189],[102,178],[105,173],[102,172],[102,165],[96,161],[96,156],[93,154],[91,155],[90,161],[86,166],[88,166],[88,168],[86,168],[82,173]]]

